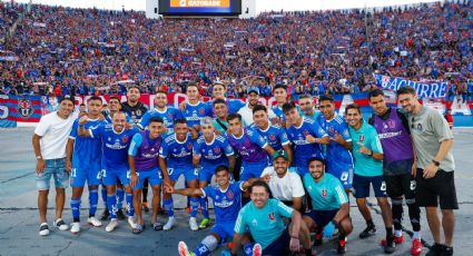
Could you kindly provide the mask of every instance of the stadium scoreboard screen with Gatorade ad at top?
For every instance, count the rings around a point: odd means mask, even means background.
[[[164,16],[238,16],[242,0],[159,0]]]

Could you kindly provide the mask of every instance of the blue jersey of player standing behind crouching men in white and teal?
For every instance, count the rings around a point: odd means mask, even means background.
[[[286,132],[294,145],[296,167],[307,167],[307,160],[312,157],[324,158],[322,146],[319,144],[309,144],[305,139],[307,135],[312,135],[315,138],[328,136],[318,122],[303,117],[303,122],[299,127],[290,126]]]

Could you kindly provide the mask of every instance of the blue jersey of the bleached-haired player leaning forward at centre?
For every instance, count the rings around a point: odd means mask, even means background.
[[[214,139],[209,144],[205,140],[204,135],[200,136],[194,142],[194,154],[200,156],[201,165],[217,167],[219,165],[228,166],[227,157],[233,156],[235,152],[226,137],[214,134]]]

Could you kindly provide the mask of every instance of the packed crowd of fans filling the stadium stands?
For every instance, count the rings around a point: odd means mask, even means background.
[[[1,4],[0,21],[14,9]],[[353,93],[375,87],[373,73],[447,80],[465,92],[473,79],[473,3],[363,10],[265,12],[255,19],[147,19],[144,12],[33,4],[1,46],[0,93],[181,91],[216,80],[229,97],[252,83],[263,96]],[[7,53],[3,53],[7,55]]]

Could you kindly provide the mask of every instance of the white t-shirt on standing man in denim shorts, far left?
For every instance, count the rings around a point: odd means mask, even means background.
[[[57,111],[41,117],[35,134],[41,136],[40,147],[42,159],[58,159],[66,157],[66,145],[78,112],[72,112],[67,119],[58,116]]]

